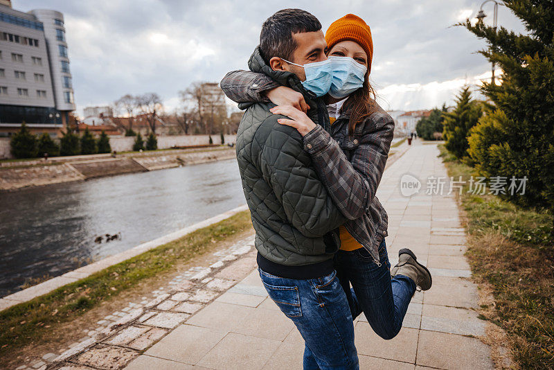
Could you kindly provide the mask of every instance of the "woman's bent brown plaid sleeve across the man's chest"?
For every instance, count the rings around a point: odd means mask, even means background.
[[[350,161],[323,127],[317,125],[303,138],[316,172],[343,215],[355,220],[369,211],[381,182],[393,139],[394,121],[384,112],[366,119],[355,140]],[[356,142],[357,141],[357,142]]]

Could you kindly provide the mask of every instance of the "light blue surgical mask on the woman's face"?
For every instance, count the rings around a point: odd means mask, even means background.
[[[332,83],[329,95],[341,99],[364,86],[368,68],[349,57],[331,56]]]

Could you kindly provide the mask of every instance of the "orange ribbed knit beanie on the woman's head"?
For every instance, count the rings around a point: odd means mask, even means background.
[[[371,71],[373,59],[373,39],[369,26],[357,15],[347,14],[334,21],[325,33],[329,50],[338,42],[351,40],[357,42],[368,55],[368,71]]]

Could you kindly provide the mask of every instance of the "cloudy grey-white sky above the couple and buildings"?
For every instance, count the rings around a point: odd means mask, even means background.
[[[13,0],[13,8],[64,13],[78,114],[124,94],[157,92],[166,109],[191,82],[219,82],[246,69],[265,19],[283,8],[302,8],[323,30],[351,12],[373,34],[371,79],[385,109],[452,104],[467,83],[490,78],[490,64],[475,51],[485,46],[461,27],[482,1],[470,0]],[[492,3],[485,5],[492,21]],[[508,9],[499,24],[523,31]]]

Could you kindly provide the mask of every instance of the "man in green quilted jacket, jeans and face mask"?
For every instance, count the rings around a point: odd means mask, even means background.
[[[327,109],[317,97],[330,87],[326,47],[316,17],[304,10],[280,10],[263,24],[249,68],[302,94],[308,116],[328,130]],[[346,218],[310,166],[304,148],[311,149],[312,143],[280,125],[278,118],[285,116],[272,114],[274,106],[240,105],[248,109],[237,133],[260,277],[305,340],[305,369],[358,369],[352,315],[333,268],[339,249],[336,229]]]

